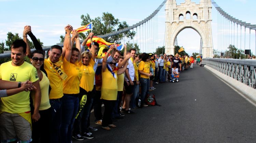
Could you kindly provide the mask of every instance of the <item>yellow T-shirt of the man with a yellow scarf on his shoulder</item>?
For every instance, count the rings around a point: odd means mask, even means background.
[[[52,64],[47,59],[44,60],[44,70],[47,73],[47,77],[50,81],[50,86],[51,86],[49,99],[61,98],[63,96],[62,78],[59,76],[59,74],[56,72]]]

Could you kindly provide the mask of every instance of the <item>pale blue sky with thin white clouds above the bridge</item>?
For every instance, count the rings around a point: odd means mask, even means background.
[[[185,0],[176,0],[177,5]],[[191,0],[199,3],[200,0]],[[8,32],[18,33],[22,36],[25,25],[30,25],[33,34],[40,38],[44,46],[51,46],[59,43],[59,36],[64,35],[64,27],[71,24],[74,28],[81,26],[81,15],[89,14],[92,19],[101,17],[103,12],[109,12],[118,18],[120,21],[126,21],[129,25],[138,23],[139,21],[148,17],[153,13],[163,0],[98,0],[96,1],[82,1],[82,0],[0,0],[0,42],[5,42]],[[229,15],[245,21],[247,23],[256,24],[255,19],[255,0],[215,0],[215,2]],[[219,49],[218,33],[218,14],[212,5],[212,37],[214,49]],[[158,12],[157,17],[152,22],[157,23],[157,28],[154,34],[155,38],[148,37],[145,31],[142,37],[138,34],[133,40],[125,39],[122,43],[130,41],[131,43],[138,42],[142,52],[154,52],[157,46],[164,45],[165,36],[165,5]],[[147,29],[147,25],[144,30]],[[136,29],[134,29],[135,31]],[[236,29],[235,29],[236,30]],[[245,34],[245,49],[249,49],[249,30],[246,29]],[[139,28],[137,29],[139,31]],[[251,31],[251,45],[252,52],[255,53],[255,31]],[[157,37],[157,38],[156,38]],[[235,35],[236,37],[236,35]],[[240,33],[238,33],[240,37]],[[244,29],[242,28],[242,47],[244,49]],[[144,39],[144,41],[142,40]],[[236,40],[236,39],[235,39]],[[151,42],[150,42],[151,41]],[[240,48],[240,38],[238,39],[238,47]],[[234,41],[233,41],[234,42]],[[154,43],[154,44],[153,44]],[[183,46],[188,54],[198,52],[200,49],[200,36],[193,29],[184,29],[177,35],[177,43]],[[235,43],[236,46],[236,43]],[[152,47],[152,48],[148,48]],[[219,49],[220,50],[220,49]]]

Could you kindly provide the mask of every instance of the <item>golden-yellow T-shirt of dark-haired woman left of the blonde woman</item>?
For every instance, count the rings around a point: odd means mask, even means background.
[[[72,64],[63,58],[63,71],[68,75],[67,79],[63,81],[63,93],[78,94],[80,92],[79,85],[82,77],[82,70],[78,66],[78,62]]]

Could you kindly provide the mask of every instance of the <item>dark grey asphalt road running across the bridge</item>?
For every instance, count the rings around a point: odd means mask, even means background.
[[[94,124],[91,114],[95,138],[73,142],[256,142],[256,107],[203,67],[194,65],[180,82],[155,87],[151,93],[161,107],[134,109],[136,114],[114,122],[117,128],[110,131]]]

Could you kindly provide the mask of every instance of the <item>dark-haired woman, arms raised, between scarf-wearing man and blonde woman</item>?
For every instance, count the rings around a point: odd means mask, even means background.
[[[67,74],[67,78],[63,81],[63,97],[62,97],[62,117],[60,124],[60,140],[61,143],[70,143],[72,136],[72,128],[75,120],[75,115],[79,107],[79,85],[82,77],[82,70],[80,69],[77,60],[80,58],[81,47],[78,34],[76,37],[76,47],[72,48],[70,33],[72,26],[65,27],[66,36],[63,45],[63,71]],[[78,47],[79,46],[79,47]]]

